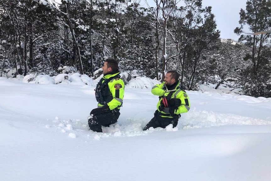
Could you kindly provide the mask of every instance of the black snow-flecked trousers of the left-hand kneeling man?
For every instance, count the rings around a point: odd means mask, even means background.
[[[119,111],[110,111],[102,114],[97,114],[88,120],[88,126],[92,131],[102,132],[102,126],[109,127],[110,124],[117,122]]]

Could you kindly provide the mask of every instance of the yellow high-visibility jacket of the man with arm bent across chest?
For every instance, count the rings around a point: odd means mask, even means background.
[[[162,117],[171,117],[171,118],[173,117],[172,115],[169,114],[169,112],[164,112],[164,111],[159,110],[159,106],[161,105],[161,100],[163,99],[163,97],[166,97],[172,91],[174,93],[171,95],[171,99],[176,98],[176,99],[181,100],[181,104],[178,107],[178,109],[175,109],[174,114],[179,115],[181,113],[185,113],[189,111],[190,109],[189,97],[183,89],[179,88],[179,85],[180,85],[180,81],[177,83],[175,88],[172,88],[171,90],[168,90],[167,86],[165,85],[165,82],[161,84],[157,84],[152,87],[152,94],[158,95],[160,98],[159,102],[157,103],[157,110],[162,113]]]

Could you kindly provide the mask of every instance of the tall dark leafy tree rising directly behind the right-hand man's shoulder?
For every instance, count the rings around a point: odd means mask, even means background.
[[[168,31],[178,53],[179,62],[175,66],[181,67],[177,68],[181,74],[180,85],[193,89],[201,80],[206,54],[215,47],[220,33],[216,30],[211,7],[202,8],[202,0],[185,0],[184,3],[185,6],[171,14]]]

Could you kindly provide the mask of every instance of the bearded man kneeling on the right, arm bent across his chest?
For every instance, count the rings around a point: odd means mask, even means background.
[[[176,127],[181,113],[188,112],[190,102],[185,90],[179,87],[180,81],[177,71],[168,71],[164,82],[157,84],[152,88],[152,94],[159,96],[157,110],[152,120],[143,128],[147,130],[150,127],[165,128],[169,124]]]

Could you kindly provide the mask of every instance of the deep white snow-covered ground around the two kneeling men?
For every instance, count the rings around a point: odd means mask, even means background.
[[[271,180],[271,98],[187,91],[176,128],[142,131],[158,97],[155,81],[136,78],[118,123],[96,133],[87,125],[96,82],[63,80],[0,77],[1,181]]]

